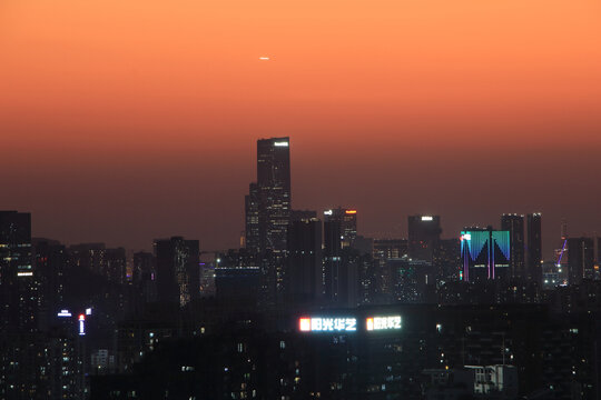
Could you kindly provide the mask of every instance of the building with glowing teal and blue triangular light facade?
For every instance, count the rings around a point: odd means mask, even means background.
[[[509,231],[466,229],[461,232],[464,281],[509,278]]]

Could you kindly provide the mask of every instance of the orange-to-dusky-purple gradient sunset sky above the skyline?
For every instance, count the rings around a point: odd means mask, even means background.
[[[259,57],[269,57],[260,61]],[[0,209],[68,243],[236,247],[257,138],[293,207],[601,231],[598,0],[2,0]]]

